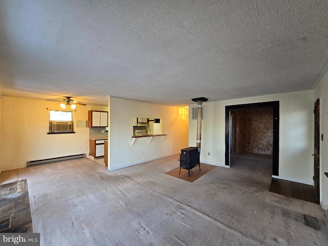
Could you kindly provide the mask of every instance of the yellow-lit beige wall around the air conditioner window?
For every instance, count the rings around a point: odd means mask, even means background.
[[[26,167],[31,160],[89,153],[89,128],[75,127],[75,134],[47,134],[49,111],[60,110],[51,101],[5,96],[1,107],[2,170]],[[74,112],[76,120],[88,120],[88,110],[108,107],[79,106]]]

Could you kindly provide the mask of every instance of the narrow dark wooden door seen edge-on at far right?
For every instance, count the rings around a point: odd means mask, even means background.
[[[313,187],[316,193],[316,199],[319,201],[320,199],[320,172],[319,172],[319,153],[320,153],[320,121],[319,121],[319,99],[316,100],[314,104],[314,176],[313,176]]]

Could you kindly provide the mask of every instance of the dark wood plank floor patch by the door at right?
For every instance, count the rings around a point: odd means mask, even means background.
[[[303,201],[319,203],[316,200],[313,186],[304,185],[304,183],[272,178],[270,191]]]

